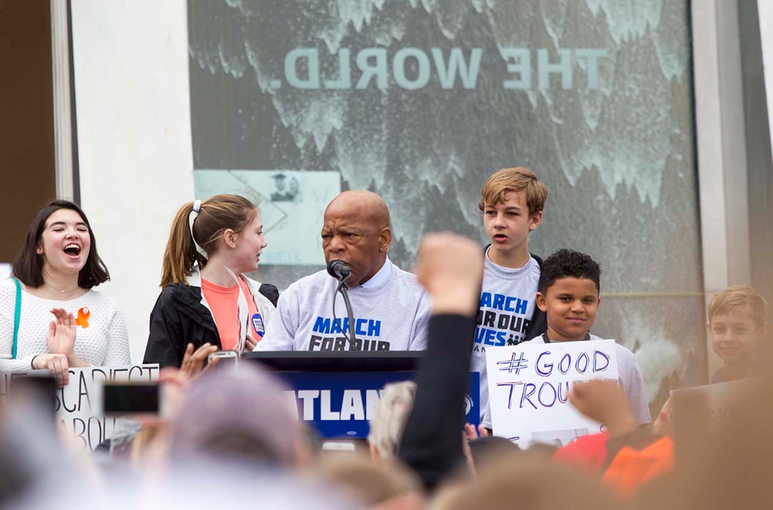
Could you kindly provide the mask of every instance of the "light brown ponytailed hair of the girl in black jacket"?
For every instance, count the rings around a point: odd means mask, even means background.
[[[257,215],[257,205],[243,196],[216,195],[201,202],[199,216],[193,221],[193,236],[188,225],[188,217],[193,210],[193,202],[186,202],[175,219],[172,231],[164,250],[161,287],[169,284],[187,283],[186,277],[193,274],[193,266],[206,265],[206,257],[196,251],[196,243],[212,255],[217,249],[217,240],[228,229],[241,233]]]

